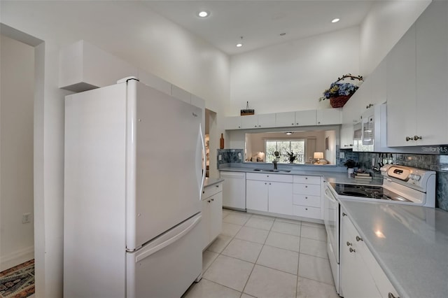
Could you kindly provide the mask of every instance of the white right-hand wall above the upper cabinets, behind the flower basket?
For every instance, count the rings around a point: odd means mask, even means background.
[[[431,0],[374,1],[360,26],[360,74],[367,77]]]

